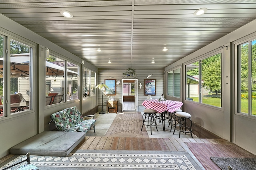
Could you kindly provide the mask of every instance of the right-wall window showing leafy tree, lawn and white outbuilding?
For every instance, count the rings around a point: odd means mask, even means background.
[[[186,65],[186,100],[221,107],[221,53]]]

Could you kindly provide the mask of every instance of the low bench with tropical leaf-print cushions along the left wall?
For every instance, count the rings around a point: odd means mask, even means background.
[[[58,131],[87,132],[93,127],[95,133],[94,115],[82,117],[76,106],[53,113],[50,117]]]

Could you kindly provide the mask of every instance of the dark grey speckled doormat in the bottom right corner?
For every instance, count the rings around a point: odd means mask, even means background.
[[[210,157],[211,160],[221,169],[227,170],[231,166],[232,170],[255,170],[256,158],[224,158]]]

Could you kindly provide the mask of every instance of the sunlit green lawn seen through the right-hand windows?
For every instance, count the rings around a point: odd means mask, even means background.
[[[198,97],[192,97],[194,102],[199,102]],[[220,98],[203,98],[203,103],[220,107]],[[248,113],[248,100],[241,99],[241,111],[243,113]],[[256,100],[252,100],[252,114],[256,115]]]

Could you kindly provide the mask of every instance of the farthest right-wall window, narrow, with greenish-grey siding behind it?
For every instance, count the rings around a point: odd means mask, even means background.
[[[180,98],[180,68],[167,73],[168,96]]]

